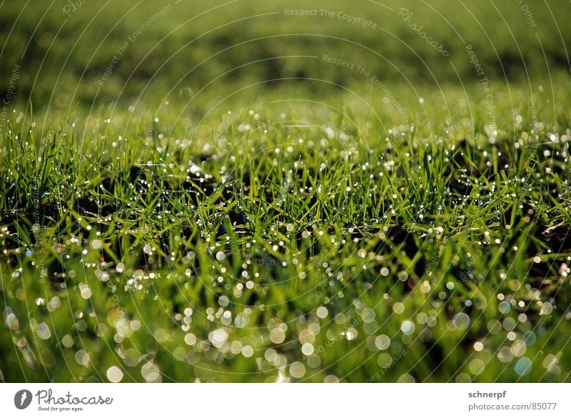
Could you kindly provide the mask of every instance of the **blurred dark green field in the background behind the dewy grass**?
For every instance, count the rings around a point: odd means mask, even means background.
[[[566,0],[72,4],[2,4],[0,86],[9,86],[14,66],[21,66],[13,101],[26,104],[31,96],[36,108],[51,109],[131,103],[138,97],[147,103],[163,96],[187,101],[204,88],[199,96],[216,102],[239,89],[297,88],[302,81],[283,80],[291,77],[325,80],[303,81],[308,93],[327,92],[328,83],[363,81],[355,70],[324,63],[324,54],[363,66],[391,84],[458,85],[479,78],[465,51],[468,44],[495,82],[570,70],[565,45],[571,43],[566,21],[571,4]],[[408,20],[403,7],[412,13]],[[316,9],[318,16],[286,16],[285,9]],[[333,17],[320,16],[320,9]],[[352,23],[345,14],[376,26]],[[430,46],[422,31],[449,55]],[[112,74],[98,84],[113,56],[118,59]]]

